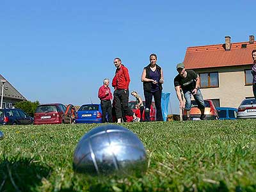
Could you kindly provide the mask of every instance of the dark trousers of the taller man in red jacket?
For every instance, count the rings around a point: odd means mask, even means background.
[[[128,107],[128,95],[129,92],[124,90],[115,90],[114,92],[114,101],[115,102],[115,112],[116,112],[116,119],[122,118],[122,109],[124,110],[124,115],[132,116],[133,112],[132,109]]]

